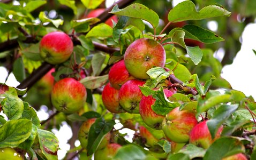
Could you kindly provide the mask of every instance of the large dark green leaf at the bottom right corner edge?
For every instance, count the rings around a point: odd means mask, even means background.
[[[214,141],[207,149],[204,160],[222,159],[241,152],[244,152],[242,141],[236,138],[223,137]]]

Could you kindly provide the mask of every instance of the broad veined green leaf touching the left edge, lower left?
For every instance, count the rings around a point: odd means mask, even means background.
[[[0,128],[0,148],[17,147],[30,135],[32,123],[28,119],[18,119],[7,121]]]

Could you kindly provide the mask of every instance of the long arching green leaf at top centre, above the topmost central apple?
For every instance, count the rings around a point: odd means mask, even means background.
[[[159,16],[153,10],[148,9],[145,5],[138,3],[131,4],[121,10],[118,9],[118,6],[116,5],[110,13],[143,19],[148,21],[154,28],[159,25]]]

